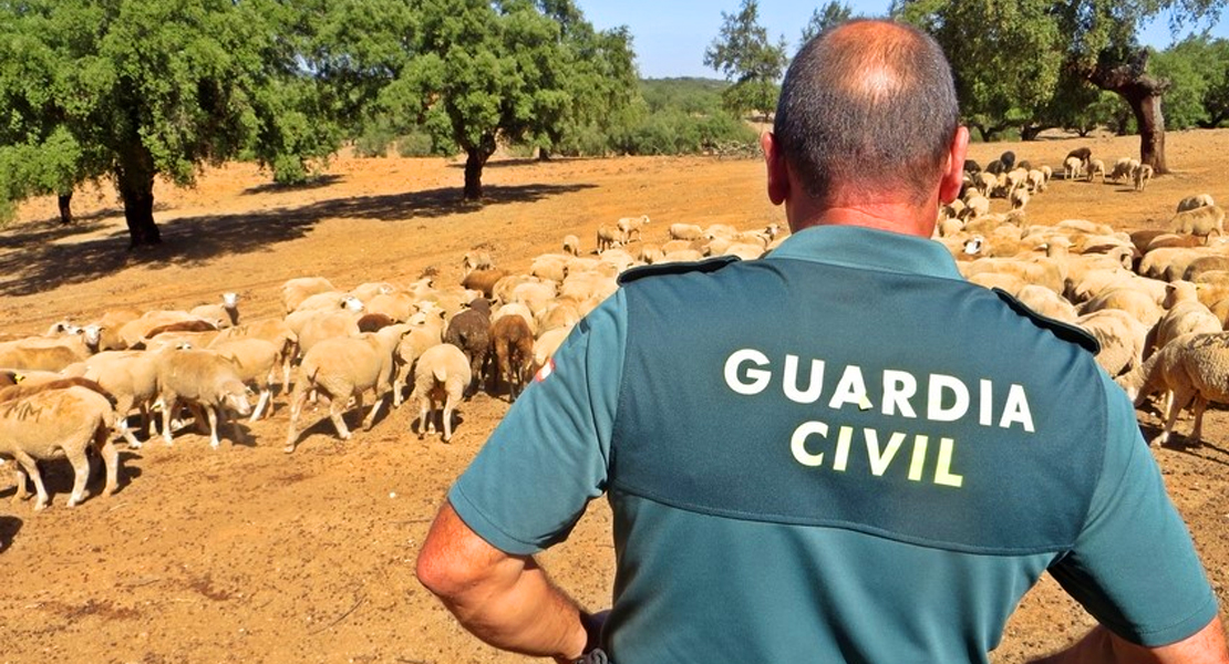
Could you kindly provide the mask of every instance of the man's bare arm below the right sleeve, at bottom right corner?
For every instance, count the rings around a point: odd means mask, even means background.
[[[1032,664],[1227,664],[1224,632],[1220,619],[1213,617],[1198,632],[1169,646],[1147,648],[1126,641],[1105,627],[1091,632],[1070,648]]]

